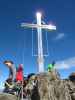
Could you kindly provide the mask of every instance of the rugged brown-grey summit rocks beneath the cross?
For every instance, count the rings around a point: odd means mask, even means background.
[[[71,79],[71,76],[73,79]],[[75,79],[70,75],[68,79],[60,79],[56,70],[39,73],[35,80],[30,77],[25,87],[27,100],[75,100]],[[14,95],[0,94],[0,100],[17,100]]]

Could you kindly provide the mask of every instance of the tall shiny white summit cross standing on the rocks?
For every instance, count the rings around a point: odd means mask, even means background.
[[[42,29],[47,29],[50,31],[56,30],[55,25],[46,25],[42,24],[41,20],[41,13],[37,12],[36,13],[36,19],[37,23],[36,24],[30,24],[30,23],[22,23],[21,27],[28,27],[28,28],[35,28],[37,29],[37,34],[38,34],[38,71],[39,72],[44,72],[44,54],[43,54],[43,43],[42,43]]]

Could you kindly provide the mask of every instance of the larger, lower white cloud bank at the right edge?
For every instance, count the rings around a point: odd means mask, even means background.
[[[75,67],[75,57],[65,59],[63,61],[58,61],[55,64],[56,69],[69,69]]]

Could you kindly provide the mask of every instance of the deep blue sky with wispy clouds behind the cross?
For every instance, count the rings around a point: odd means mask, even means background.
[[[38,11],[46,24],[57,27],[55,32],[47,31],[47,41],[46,31],[42,33],[44,52],[48,53],[45,70],[54,60],[61,78],[75,72],[75,0],[0,0],[0,87],[9,72],[4,60],[12,60],[15,66],[23,63],[24,74],[37,72],[37,57],[32,55],[37,54],[37,32],[33,32],[32,51],[32,30],[23,29],[21,23],[36,22]]]

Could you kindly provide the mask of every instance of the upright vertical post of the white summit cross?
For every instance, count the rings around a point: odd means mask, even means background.
[[[37,25],[41,26],[41,14],[37,13]],[[38,71],[44,72],[44,57],[43,57],[43,44],[42,44],[42,29],[37,27],[38,35]]]

